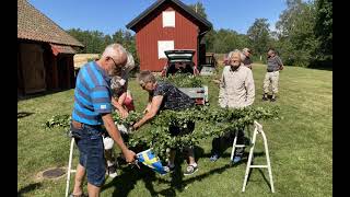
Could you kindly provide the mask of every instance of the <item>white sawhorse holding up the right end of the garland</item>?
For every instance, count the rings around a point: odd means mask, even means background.
[[[264,167],[264,169],[268,169],[268,173],[269,173],[269,177],[270,177],[271,192],[275,193],[275,186],[273,186],[273,179],[272,179],[272,171],[271,171],[269,149],[268,149],[268,146],[267,146],[267,139],[266,139],[265,132],[262,130],[262,126],[257,121],[254,121],[254,126],[255,126],[255,128],[254,128],[254,132],[253,132],[252,147],[250,147],[250,150],[249,150],[248,162],[247,162],[247,167],[246,167],[246,171],[245,171],[242,192],[245,192],[245,186],[247,185],[247,179],[248,179],[248,175],[249,175],[250,169],[254,169],[254,167],[262,169]],[[236,147],[245,147],[245,144],[237,144],[237,134],[238,132],[235,132],[235,137],[234,137],[233,144],[232,144],[231,161],[233,161],[233,155],[234,155],[235,148]],[[254,157],[253,154],[254,154],[254,148],[255,148],[255,142],[256,142],[256,136],[258,134],[260,134],[262,136],[267,165],[253,165],[252,164],[253,163],[253,157]]]

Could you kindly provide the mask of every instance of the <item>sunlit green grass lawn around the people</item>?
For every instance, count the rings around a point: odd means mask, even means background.
[[[254,65],[257,106],[278,105],[282,119],[261,121],[268,138],[275,196],[332,195],[332,71],[284,67],[280,73],[276,103],[262,102],[265,65]],[[218,88],[209,85],[211,106],[218,103]],[[137,111],[144,108],[147,93],[130,81]],[[59,128],[42,127],[56,114],[70,114],[73,90],[18,102],[18,193],[19,196],[63,196],[66,177],[38,181],[36,174],[55,166],[67,166],[70,139]],[[267,170],[253,170],[246,192],[241,193],[246,164],[229,165],[231,148],[217,162],[210,162],[211,139],[196,148],[199,171],[183,176],[186,164],[173,175],[159,176],[148,169],[122,165],[119,176],[107,178],[101,196],[270,196],[265,181]],[[255,164],[264,163],[258,138]],[[247,151],[247,150],[246,150]],[[77,163],[77,154],[74,162]],[[75,165],[75,164],[74,164]],[[73,184],[73,181],[71,182]],[[72,185],[71,184],[71,185]],[[84,188],[86,190],[86,187]]]

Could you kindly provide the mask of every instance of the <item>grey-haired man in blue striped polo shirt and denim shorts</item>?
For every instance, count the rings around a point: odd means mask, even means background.
[[[125,146],[112,118],[109,81],[126,62],[125,48],[119,44],[112,44],[106,47],[100,60],[84,65],[77,77],[71,131],[80,152],[80,159],[73,196],[83,194],[82,183],[85,173],[89,196],[100,196],[106,172],[102,125],[121,149],[126,161],[135,161],[135,152]]]

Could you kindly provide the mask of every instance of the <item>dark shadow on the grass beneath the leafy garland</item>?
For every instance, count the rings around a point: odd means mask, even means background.
[[[210,154],[205,154],[203,153],[203,149],[200,147],[195,147],[195,158],[196,161],[200,161],[201,159],[208,159]],[[243,163],[247,162],[247,153],[244,153],[244,158],[242,159],[241,162],[236,163],[236,164],[231,164],[230,162],[230,153],[224,153],[222,154],[222,159],[229,158],[228,160],[228,164],[217,167],[217,169],[212,169],[208,172],[206,172],[205,174],[198,175],[196,176],[196,174],[194,174],[194,177],[190,177],[188,179],[184,181],[184,172],[182,171],[182,163],[184,162],[184,160],[186,160],[187,157],[185,157],[186,154],[184,154],[183,152],[177,152],[176,153],[176,159],[175,159],[175,170],[173,173],[170,174],[171,179],[164,179],[164,178],[159,178],[156,177],[156,173],[153,172],[150,167],[144,166],[144,165],[140,165],[140,169],[138,167],[131,167],[131,166],[124,166],[120,170],[122,171],[122,173],[120,175],[118,175],[117,177],[115,177],[112,182],[109,182],[108,184],[102,186],[102,192],[109,188],[109,187],[114,187],[114,192],[113,192],[113,196],[128,196],[129,193],[135,188],[136,184],[138,181],[142,181],[145,185],[145,188],[150,192],[151,196],[159,196],[159,195],[163,195],[163,196],[176,196],[176,190],[178,192],[183,192],[186,187],[186,185],[192,183],[192,182],[200,182],[203,178],[207,178],[213,174],[221,174],[223,173],[226,169],[230,167],[234,167],[237,165],[241,165]],[[254,157],[260,157],[260,155],[265,155],[264,152],[256,152],[254,153]],[[199,170],[200,170],[200,165],[199,165]],[[168,176],[168,175],[165,175]],[[155,192],[154,187],[153,187],[153,182],[158,182],[158,183],[163,183],[163,184],[168,184],[170,187],[165,188],[163,190],[160,192]]]

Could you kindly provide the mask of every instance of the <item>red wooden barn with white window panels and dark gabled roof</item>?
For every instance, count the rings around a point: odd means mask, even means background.
[[[161,71],[166,63],[164,50],[195,50],[195,65],[206,57],[206,46],[201,44],[211,23],[197,14],[179,0],[158,0],[127,28],[136,32],[136,46],[140,59],[140,70]]]

